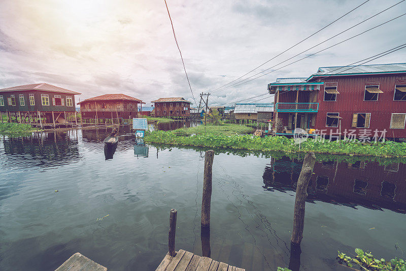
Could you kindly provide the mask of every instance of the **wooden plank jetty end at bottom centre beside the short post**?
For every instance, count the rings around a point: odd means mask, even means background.
[[[245,269],[180,249],[175,257],[166,254],[155,271],[245,271]]]

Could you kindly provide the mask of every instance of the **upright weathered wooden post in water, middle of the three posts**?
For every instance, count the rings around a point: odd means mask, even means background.
[[[212,199],[212,167],[214,151],[208,150],[205,155],[205,173],[203,179],[203,196],[201,199],[201,226],[210,226],[210,203]]]

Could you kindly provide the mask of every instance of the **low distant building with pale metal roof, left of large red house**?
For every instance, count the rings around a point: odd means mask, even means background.
[[[235,120],[257,121],[270,120],[274,112],[273,104],[236,104],[232,112]],[[258,118],[258,115],[260,118]],[[270,118],[268,118],[270,116]]]

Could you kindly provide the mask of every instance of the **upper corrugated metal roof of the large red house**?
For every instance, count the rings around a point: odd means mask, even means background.
[[[359,66],[333,66],[319,67],[317,73],[312,76],[325,74],[368,74],[368,73],[398,73],[406,72],[406,63],[374,64]]]

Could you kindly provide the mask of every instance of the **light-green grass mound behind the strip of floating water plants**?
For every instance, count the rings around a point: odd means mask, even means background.
[[[223,125],[198,125],[190,128],[180,128],[173,133],[181,136],[191,136],[192,134],[222,134],[223,136],[235,136],[236,134],[251,133],[252,128],[238,124],[223,124]]]

